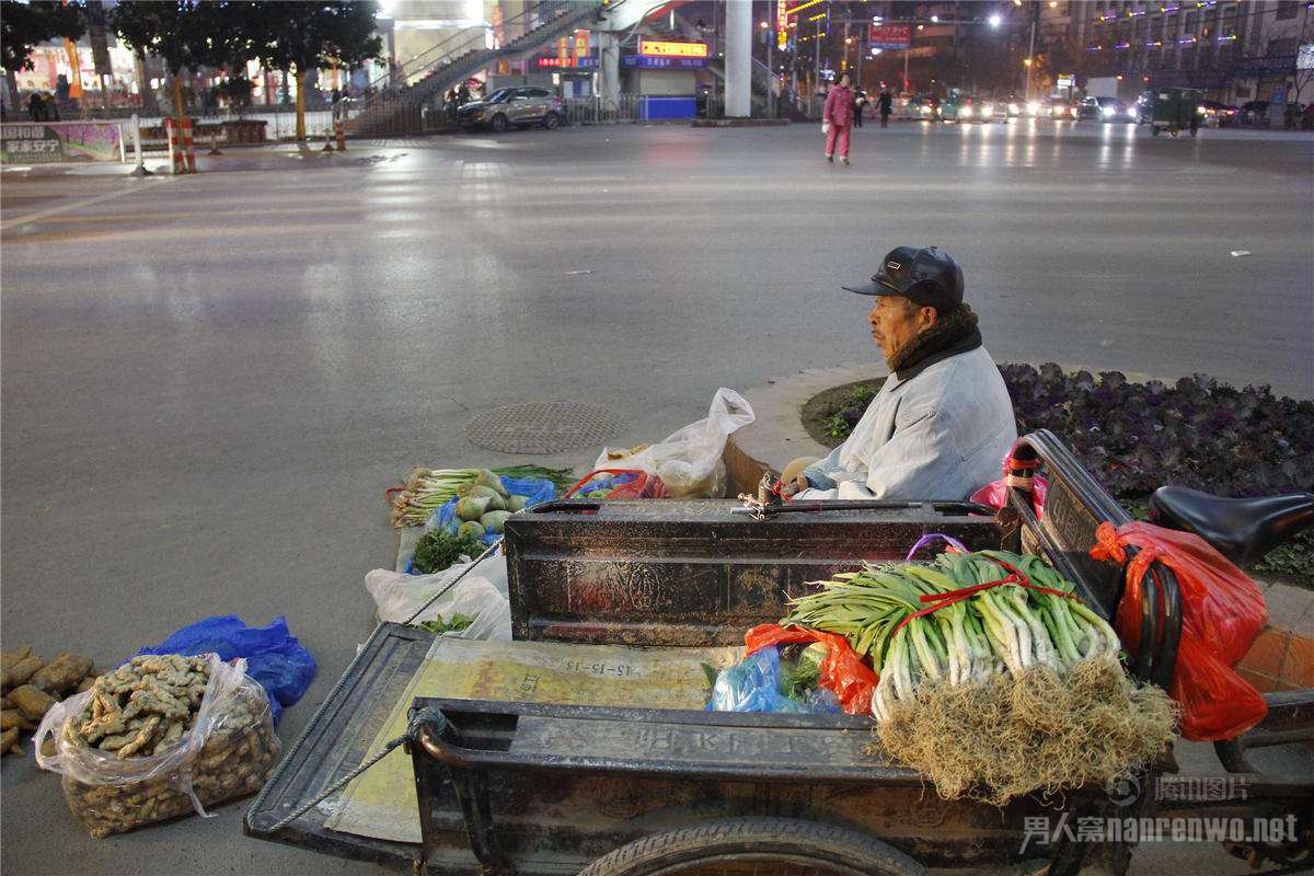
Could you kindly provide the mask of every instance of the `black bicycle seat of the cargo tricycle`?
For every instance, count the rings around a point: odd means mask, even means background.
[[[1194,532],[1233,562],[1247,563],[1314,523],[1314,494],[1225,499],[1187,487],[1159,487],[1150,496],[1150,519]]]

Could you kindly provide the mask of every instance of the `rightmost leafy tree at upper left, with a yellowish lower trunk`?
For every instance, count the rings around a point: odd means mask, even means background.
[[[267,30],[259,41],[259,55],[267,68],[297,76],[297,139],[306,139],[306,74],[338,63],[355,70],[382,49],[374,34],[374,3],[334,0],[261,3]]]

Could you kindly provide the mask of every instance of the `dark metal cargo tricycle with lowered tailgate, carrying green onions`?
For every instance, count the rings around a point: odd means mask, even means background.
[[[1041,554],[1110,617],[1125,570],[1088,549],[1100,523],[1121,524],[1127,514],[1049,432],[1022,437],[1013,460],[997,512],[929,502],[795,503],[752,515],[731,500],[540,506],[506,524],[514,638],[741,644],[749,626],[783,616],[807,582],[863,559],[901,558],[930,532],[970,549]],[[1041,519],[1029,486],[1037,464],[1049,478]],[[1309,499],[1175,494],[1163,512],[1244,552],[1307,521]],[[1243,525],[1219,523],[1229,519]],[[1141,584],[1142,638],[1129,671],[1167,686],[1183,623],[1177,582],[1156,562]],[[399,679],[431,645],[428,633],[396,624],[374,632],[251,805],[247,834],[417,873],[857,876],[1025,862],[1067,876],[1122,873],[1130,859],[1126,837],[1081,842],[1072,827],[1083,818],[1292,816],[1297,839],[1233,850],[1256,864],[1314,859],[1314,781],[1264,775],[1246,756],[1255,746],[1314,738],[1314,691],[1267,695],[1267,720],[1218,743],[1227,772],[1208,801],[1184,793],[1201,779],[1166,772],[1164,756],[1112,796],[1077,788],[1003,809],[941,800],[880,753],[862,716],[417,697],[405,745],[422,842],[331,830],[322,808],[293,817],[365,759],[381,714],[405,688]],[[1037,820],[1055,829],[1054,842],[1026,842]]]

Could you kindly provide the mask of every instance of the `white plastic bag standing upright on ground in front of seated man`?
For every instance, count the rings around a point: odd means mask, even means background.
[[[660,444],[639,453],[604,448],[593,468],[643,469],[666,485],[673,499],[720,498],[725,495],[725,440],[753,422],[753,408],[742,395],[721,387],[712,397],[707,419],[690,423]]]

